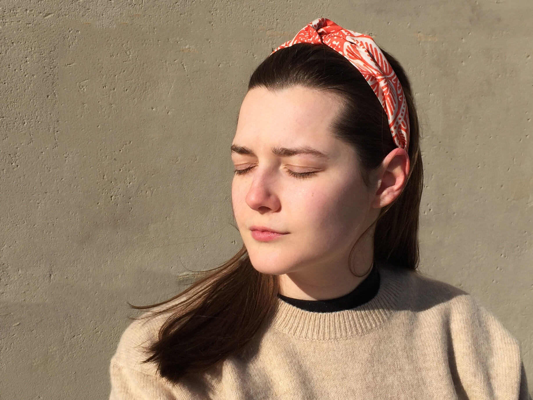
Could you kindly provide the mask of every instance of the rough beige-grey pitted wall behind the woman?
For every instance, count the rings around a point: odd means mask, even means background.
[[[503,322],[533,386],[531,1],[19,0],[0,13],[2,398],[107,397],[126,301],[165,299],[240,247],[229,145],[247,79],[320,16],[408,71],[422,271]]]

